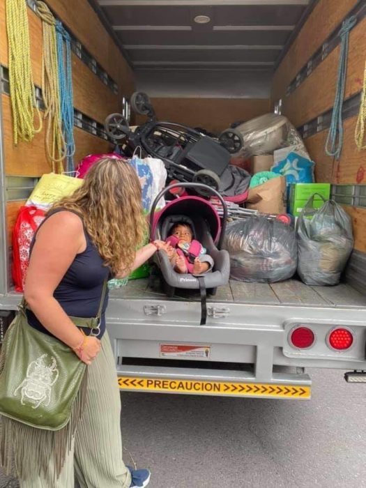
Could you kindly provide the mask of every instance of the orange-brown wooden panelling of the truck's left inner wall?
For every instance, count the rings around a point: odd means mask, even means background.
[[[118,92],[107,86],[93,73],[93,70],[73,53],[74,107],[93,121],[104,123],[112,112],[121,112],[123,96],[129,97],[135,89],[132,70],[126,63],[119,48],[100,22],[87,0],[47,0],[47,5],[63,22],[87,51],[111,77]],[[29,36],[31,39],[31,65],[33,81],[41,85],[42,24],[36,13],[27,8]],[[0,63],[8,66],[8,41],[6,36],[5,1],[0,2]],[[11,120],[10,96],[1,93],[3,112],[3,142],[6,176],[39,177],[51,171],[45,154],[45,128],[31,143],[19,142],[13,145],[13,125]],[[74,128],[76,153],[75,162],[89,153],[105,153],[111,149],[109,142],[92,135],[82,128]],[[24,201],[8,201],[6,213],[8,222],[8,243],[17,217],[17,211]]]

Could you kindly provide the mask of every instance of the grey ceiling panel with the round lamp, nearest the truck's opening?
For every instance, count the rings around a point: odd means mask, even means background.
[[[112,25],[195,25],[196,15],[214,25],[294,25],[305,6],[105,6]]]

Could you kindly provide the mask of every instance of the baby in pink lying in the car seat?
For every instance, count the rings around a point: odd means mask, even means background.
[[[202,275],[213,268],[212,257],[206,254],[206,248],[199,241],[193,239],[193,230],[189,224],[177,222],[165,242],[176,273]]]

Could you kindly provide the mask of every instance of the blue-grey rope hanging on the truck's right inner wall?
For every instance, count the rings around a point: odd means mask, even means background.
[[[326,153],[339,160],[343,146],[343,121],[342,109],[344,100],[344,89],[346,87],[347,58],[349,49],[349,31],[356,24],[356,15],[351,15],[344,20],[340,29],[341,38],[340,63],[338,65],[337,86],[335,89],[335,100],[332,112],[332,121],[326,139]]]

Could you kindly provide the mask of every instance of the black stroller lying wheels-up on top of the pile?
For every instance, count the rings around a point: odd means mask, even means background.
[[[132,95],[131,106],[137,114],[148,116],[148,121],[135,131],[121,114],[110,114],[105,120],[107,135],[121,144],[126,155],[132,155],[141,146],[146,153],[164,162],[169,181],[204,183],[218,190],[230,154],[241,149],[243,138],[239,132],[225,130],[215,140],[185,125],[158,122],[150,99],[142,92]],[[204,187],[195,190],[208,196]]]

